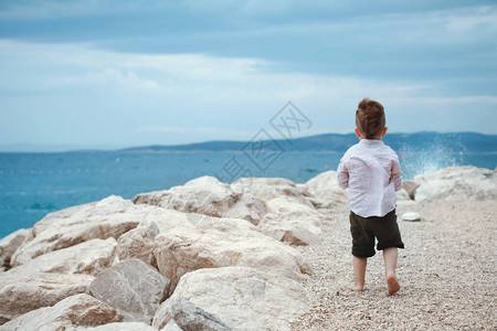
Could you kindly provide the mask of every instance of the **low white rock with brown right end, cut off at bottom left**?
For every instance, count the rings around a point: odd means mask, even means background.
[[[67,330],[97,327],[123,320],[110,306],[86,293],[75,295],[59,301],[53,307],[40,308],[20,316],[0,327],[1,331],[12,330]]]

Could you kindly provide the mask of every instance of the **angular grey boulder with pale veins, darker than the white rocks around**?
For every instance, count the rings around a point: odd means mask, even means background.
[[[124,314],[125,321],[150,324],[168,293],[170,281],[140,259],[129,259],[102,271],[89,291]]]

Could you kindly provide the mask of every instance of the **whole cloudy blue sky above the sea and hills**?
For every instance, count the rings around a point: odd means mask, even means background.
[[[0,2],[0,150],[248,140],[290,100],[299,136],[497,134],[495,1]]]

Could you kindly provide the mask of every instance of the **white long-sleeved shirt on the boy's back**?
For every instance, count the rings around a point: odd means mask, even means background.
[[[402,189],[396,153],[381,140],[361,139],[340,160],[338,184],[349,188],[350,210],[359,216],[384,216],[395,209]]]

